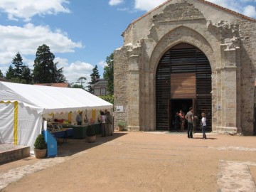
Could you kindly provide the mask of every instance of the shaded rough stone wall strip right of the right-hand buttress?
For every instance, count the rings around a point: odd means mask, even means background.
[[[253,133],[255,68],[256,68],[256,22],[238,21],[241,39],[241,129],[245,135]]]

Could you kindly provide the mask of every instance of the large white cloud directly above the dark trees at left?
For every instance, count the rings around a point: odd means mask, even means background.
[[[0,26],[0,60],[1,64],[11,63],[16,53],[36,55],[38,46],[46,44],[55,53],[74,52],[75,48],[82,48],[82,43],[75,43],[61,31],[51,31],[48,26],[33,26],[28,23],[23,27]]]

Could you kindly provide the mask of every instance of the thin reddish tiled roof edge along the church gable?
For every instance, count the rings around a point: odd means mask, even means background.
[[[172,0],[168,0],[168,1],[165,1],[163,4],[159,5],[159,6],[156,6],[156,8],[152,9],[151,11],[147,12],[146,14],[140,16],[139,18],[137,18],[136,20],[132,21],[132,23],[129,24],[129,26],[131,26],[133,23],[136,23],[137,21],[139,21],[141,18],[144,18],[144,16],[147,16],[148,14],[151,14],[151,12],[155,11],[156,9],[159,9],[159,7],[161,6],[164,6],[165,4],[168,4],[170,1]],[[218,6],[217,4],[213,4],[213,3],[210,3],[209,1],[205,1],[205,0],[197,0],[197,1],[201,1],[205,4],[209,4],[210,6],[215,6],[217,7],[218,9],[222,9],[223,11],[227,11],[228,13],[230,14],[235,14],[236,16],[240,16],[242,18],[245,18],[247,20],[250,20],[250,21],[255,21],[256,22],[256,19],[255,18],[250,18],[248,16],[245,16],[245,15],[242,15],[242,14],[239,14],[238,12],[235,12],[235,11],[232,11],[230,9],[226,9],[225,7],[223,6]],[[129,28],[129,26],[127,28]],[[126,30],[125,30],[126,31]],[[124,32],[123,32],[124,33]],[[122,35],[123,35],[122,33]]]

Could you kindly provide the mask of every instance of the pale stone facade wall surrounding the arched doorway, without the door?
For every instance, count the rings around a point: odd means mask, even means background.
[[[157,65],[166,50],[188,43],[210,62],[213,132],[252,134],[256,22],[225,12],[223,20],[213,23],[206,18],[207,4],[171,2],[132,23],[124,33],[129,44],[114,54],[114,105],[126,105],[126,111],[115,117],[126,118],[132,130],[156,129]],[[216,14],[213,7],[207,8]]]

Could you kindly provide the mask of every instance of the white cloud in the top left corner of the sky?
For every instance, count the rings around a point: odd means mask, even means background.
[[[0,10],[8,14],[9,19],[18,20],[23,18],[30,21],[35,15],[44,16],[48,14],[69,13],[64,4],[69,4],[68,0],[1,0]]]

